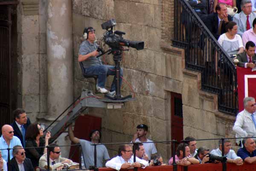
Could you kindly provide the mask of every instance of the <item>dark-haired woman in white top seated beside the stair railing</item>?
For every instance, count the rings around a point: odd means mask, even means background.
[[[226,25],[227,32],[218,38],[218,43],[230,55],[236,55],[244,52],[244,46],[241,37],[237,33],[237,24],[229,21]]]

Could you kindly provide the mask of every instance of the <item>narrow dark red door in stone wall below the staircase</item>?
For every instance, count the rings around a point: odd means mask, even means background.
[[[172,139],[176,139],[177,142],[183,140],[182,97],[181,94],[173,92],[171,93],[171,129]]]

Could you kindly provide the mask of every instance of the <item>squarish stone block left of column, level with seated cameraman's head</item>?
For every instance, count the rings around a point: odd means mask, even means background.
[[[22,34],[22,54],[32,55],[39,53],[39,37],[37,34]]]

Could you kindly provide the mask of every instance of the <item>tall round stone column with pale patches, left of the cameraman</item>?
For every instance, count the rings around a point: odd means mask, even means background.
[[[53,120],[73,101],[71,0],[48,0],[48,116]]]

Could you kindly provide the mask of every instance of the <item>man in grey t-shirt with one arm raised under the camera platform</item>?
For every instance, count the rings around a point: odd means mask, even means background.
[[[91,130],[90,132],[90,140],[87,141],[85,139],[79,139],[74,136],[73,130],[72,130],[72,125],[68,127],[68,135],[69,138],[72,142],[78,144],[81,144],[83,154],[84,154],[84,159],[83,156],[81,155],[82,159],[82,166],[85,168],[89,168],[90,166],[94,166],[94,147],[92,144],[99,144],[100,143],[100,138],[101,138],[101,133],[99,130]],[[97,166],[102,168],[103,167],[103,160],[108,160],[109,155],[108,155],[108,150],[105,147],[105,145],[97,145]],[[84,161],[83,161],[84,160]],[[85,166],[84,166],[85,162]]]

